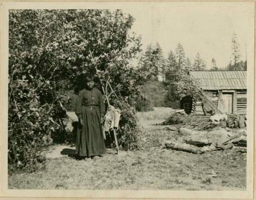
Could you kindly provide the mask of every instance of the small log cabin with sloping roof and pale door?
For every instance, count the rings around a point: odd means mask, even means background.
[[[187,114],[246,114],[246,71],[190,71],[189,75],[199,80],[207,98],[184,97],[181,107]]]

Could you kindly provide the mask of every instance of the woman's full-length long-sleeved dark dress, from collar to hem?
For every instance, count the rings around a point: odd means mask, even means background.
[[[106,152],[100,118],[104,116],[105,106],[101,92],[96,88],[83,89],[76,102],[76,115],[82,117],[82,126],[78,125],[76,154],[91,157]]]

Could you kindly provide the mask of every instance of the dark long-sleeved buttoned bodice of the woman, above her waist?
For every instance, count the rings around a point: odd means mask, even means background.
[[[79,92],[76,102],[76,115],[78,117],[82,114],[82,106],[98,106],[100,110],[100,116],[105,114],[105,104],[101,92],[93,88],[91,91],[83,89]]]

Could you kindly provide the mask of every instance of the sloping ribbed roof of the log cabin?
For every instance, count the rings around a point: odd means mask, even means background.
[[[246,89],[246,71],[190,71],[203,90]]]

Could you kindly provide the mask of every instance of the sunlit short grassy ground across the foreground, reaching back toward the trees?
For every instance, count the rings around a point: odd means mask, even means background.
[[[96,161],[50,158],[44,171],[9,176],[9,189],[245,190],[246,155],[240,148],[204,154],[163,148],[164,140],[181,137],[175,131],[154,130],[170,112],[160,107],[138,113],[143,150],[106,153]]]

